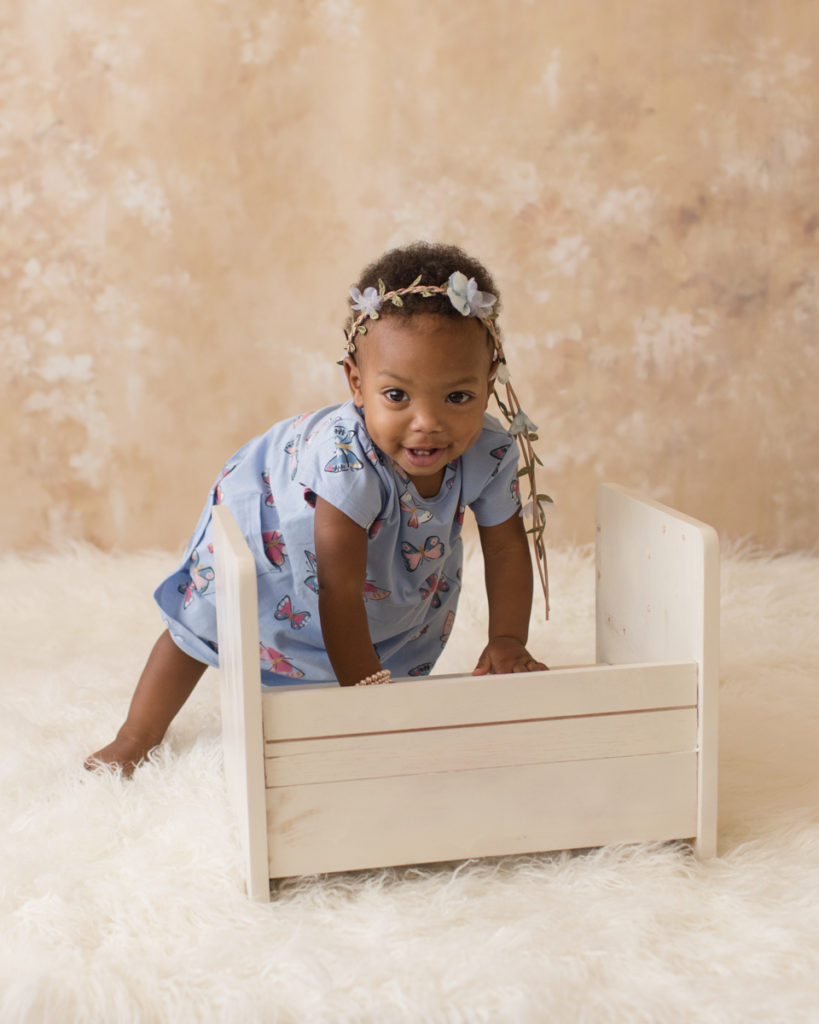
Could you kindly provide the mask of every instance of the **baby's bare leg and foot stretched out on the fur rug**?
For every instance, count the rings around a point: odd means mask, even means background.
[[[100,764],[110,765],[131,775],[148,751],[162,742],[206,668],[180,650],[166,630],[145,663],[117,738],[87,758],[85,767],[93,771]]]

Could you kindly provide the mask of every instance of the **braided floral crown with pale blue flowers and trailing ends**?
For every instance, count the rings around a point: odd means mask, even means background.
[[[510,383],[510,373],[504,354],[504,347],[501,344],[501,334],[497,325],[498,314],[492,308],[498,301],[497,296],[491,292],[481,292],[474,278],[467,280],[465,273],[456,270],[449,275],[448,281],[443,285],[422,285],[419,275],[406,288],[395,288],[387,291],[386,285],[381,279],[378,288],[365,288],[363,292],[357,288],[350,289],[352,298],[352,308],[357,315],[352,317],[349,328],[345,332],[347,338],[347,354],[354,355],[356,349],[356,338],[367,334],[367,322],[378,319],[381,315],[381,307],[385,302],[391,302],[394,306],[402,306],[404,295],[421,295],[423,298],[430,298],[433,295],[445,295],[452,306],[462,316],[477,316],[491,338],[494,347],[494,359],[498,364],[494,381],[503,384],[506,388],[506,401],[498,393],[498,387],[493,389],[494,399],[498,408],[504,414],[509,423],[509,432],[517,440],[520,453],[523,458],[523,468],[518,470],[518,477],[525,476],[528,482],[528,502],[521,509],[521,515],[531,518],[531,526],[526,529],[530,535],[532,548],[534,550],[534,560],[537,565],[537,573],[541,578],[541,585],[546,599],[546,617],[549,617],[549,571],[546,563],[546,547],[544,545],[544,530],[546,529],[546,516],[544,514],[543,503],[551,502],[548,495],[537,494],[537,484],[534,478],[535,464],[542,466],[543,463],[537,458],[532,441],[537,440],[537,427],[526,416],[520,408],[520,402]]]

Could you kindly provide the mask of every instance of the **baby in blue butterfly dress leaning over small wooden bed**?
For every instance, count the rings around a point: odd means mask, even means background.
[[[535,428],[508,385],[491,278],[454,246],[417,243],[371,264],[350,295],[342,365],[351,397],[273,425],[228,460],[181,564],[155,594],[167,629],[127,719],[88,767],[130,774],[218,665],[218,504],[256,558],[263,685],[427,675],[455,620],[467,508],[489,611],[474,674],[546,668],[526,649],[532,569],[518,477],[530,482],[545,590],[548,499],[533,486]],[[508,430],[486,414],[495,383],[507,385],[508,404],[494,393]]]

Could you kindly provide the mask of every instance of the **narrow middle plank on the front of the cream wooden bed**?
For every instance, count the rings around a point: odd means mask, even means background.
[[[267,744],[267,786],[695,751],[695,708]]]

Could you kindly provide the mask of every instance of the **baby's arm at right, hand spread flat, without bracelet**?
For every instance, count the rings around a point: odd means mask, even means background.
[[[532,572],[526,531],[518,514],[497,526],[480,526],[489,642],[473,675],[545,669],[526,650],[531,613]]]

